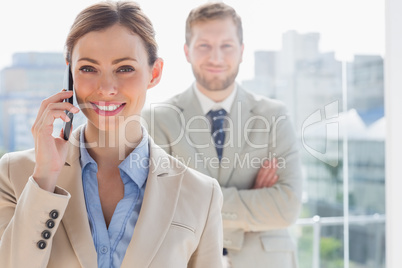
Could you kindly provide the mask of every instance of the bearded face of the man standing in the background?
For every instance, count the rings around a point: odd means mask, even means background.
[[[197,85],[209,91],[234,84],[242,61],[243,44],[231,18],[198,22],[192,27],[189,45],[184,45]]]

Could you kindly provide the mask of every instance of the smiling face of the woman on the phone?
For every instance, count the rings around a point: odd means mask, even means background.
[[[121,25],[90,32],[76,42],[71,57],[78,104],[88,125],[112,130],[138,120],[146,91],[155,86],[162,60],[149,66],[142,39]]]

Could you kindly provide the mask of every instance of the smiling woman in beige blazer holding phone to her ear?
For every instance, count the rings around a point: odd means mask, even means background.
[[[87,124],[69,141],[61,91],[44,100],[35,149],[0,161],[1,267],[221,267],[217,182],[157,147],[141,127],[146,91],[163,61],[133,2],[83,10],[66,41]]]

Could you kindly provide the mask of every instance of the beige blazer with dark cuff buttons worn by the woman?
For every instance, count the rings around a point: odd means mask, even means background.
[[[0,160],[0,266],[4,268],[95,268],[81,180],[78,131],[70,139],[55,193],[34,182],[34,150]],[[150,142],[144,201],[123,268],[222,267],[222,193],[219,185],[186,168]],[[57,210],[55,226],[49,213]],[[49,239],[42,232],[50,230]],[[46,242],[39,249],[38,241]]]

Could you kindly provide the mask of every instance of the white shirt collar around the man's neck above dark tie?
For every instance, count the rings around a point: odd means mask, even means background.
[[[219,110],[219,109],[225,109],[227,113],[230,113],[230,110],[232,108],[237,93],[237,84],[235,83],[232,93],[230,93],[230,95],[221,102],[215,102],[210,98],[208,98],[207,96],[205,96],[203,93],[201,93],[196,83],[193,84],[193,89],[195,95],[197,96],[198,101],[201,104],[202,112],[205,115],[211,110]]]

